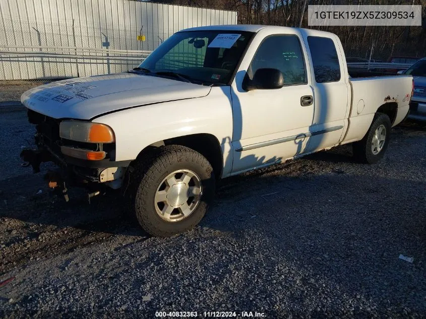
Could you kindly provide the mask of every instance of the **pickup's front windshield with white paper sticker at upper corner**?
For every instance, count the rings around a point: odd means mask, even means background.
[[[174,74],[176,80],[183,77],[200,84],[227,84],[252,36],[253,32],[229,30],[178,32],[164,41],[138,68],[148,75]]]

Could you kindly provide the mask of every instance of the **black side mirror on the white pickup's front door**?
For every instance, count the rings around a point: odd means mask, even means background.
[[[245,91],[280,89],[283,86],[284,77],[277,69],[258,69],[253,80],[246,74],[242,81],[242,89]]]

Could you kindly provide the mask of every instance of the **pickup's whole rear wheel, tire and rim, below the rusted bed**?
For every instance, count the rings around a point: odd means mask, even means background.
[[[353,154],[361,163],[377,163],[386,152],[391,133],[389,116],[377,113],[366,136],[353,143]]]

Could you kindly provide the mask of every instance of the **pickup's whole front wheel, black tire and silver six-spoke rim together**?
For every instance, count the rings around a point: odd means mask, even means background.
[[[130,176],[132,209],[142,228],[167,237],[197,225],[213,199],[215,177],[207,159],[178,145],[154,150]]]

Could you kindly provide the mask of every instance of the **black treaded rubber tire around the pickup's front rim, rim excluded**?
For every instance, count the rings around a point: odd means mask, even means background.
[[[215,176],[209,161],[200,153],[180,145],[167,145],[152,150],[132,165],[126,197],[139,224],[149,234],[168,237],[196,226],[212,202]],[[202,195],[195,210],[180,221],[166,221],[156,212],[155,194],[161,182],[178,170],[190,170],[201,180]]]

